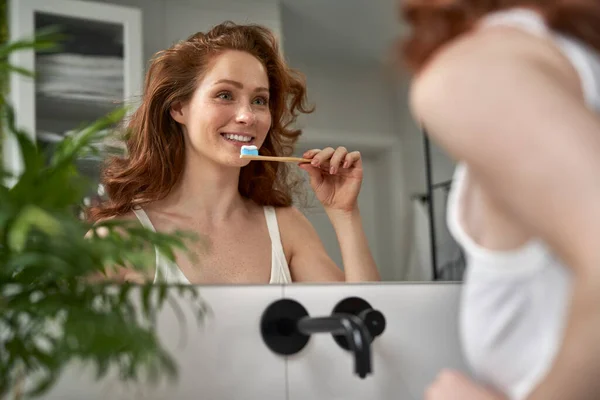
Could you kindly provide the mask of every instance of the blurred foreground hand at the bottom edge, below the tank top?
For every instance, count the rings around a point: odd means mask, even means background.
[[[442,371],[427,388],[425,400],[507,400],[457,371]]]

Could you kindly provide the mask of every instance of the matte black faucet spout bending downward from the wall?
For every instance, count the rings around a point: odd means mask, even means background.
[[[350,351],[354,354],[354,372],[365,378],[371,369],[371,333],[359,317],[352,314],[333,314],[328,317],[303,317],[297,322],[297,330],[304,335],[331,333],[344,335]]]

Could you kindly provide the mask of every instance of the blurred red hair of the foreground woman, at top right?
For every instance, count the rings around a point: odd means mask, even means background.
[[[401,45],[412,72],[420,71],[440,47],[469,31],[485,14],[515,7],[533,8],[557,32],[600,51],[599,0],[404,0],[403,19],[412,29]]]

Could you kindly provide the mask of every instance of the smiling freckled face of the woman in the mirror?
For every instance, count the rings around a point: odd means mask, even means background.
[[[187,104],[171,109],[185,129],[186,154],[242,167],[243,145],[260,146],[271,127],[269,80],[253,55],[228,50],[210,68]]]

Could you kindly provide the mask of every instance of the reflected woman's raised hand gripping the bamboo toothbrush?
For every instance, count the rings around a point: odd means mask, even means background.
[[[310,185],[325,210],[350,212],[357,208],[363,178],[358,151],[345,147],[313,149],[303,154],[312,162],[300,164],[310,176]]]

